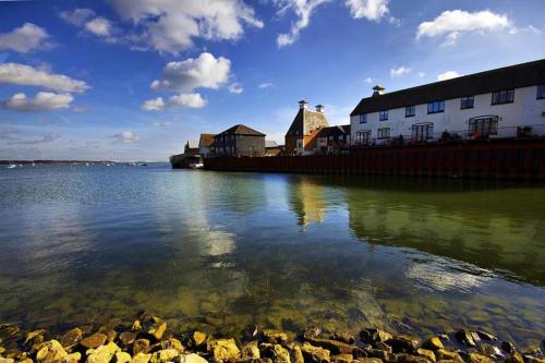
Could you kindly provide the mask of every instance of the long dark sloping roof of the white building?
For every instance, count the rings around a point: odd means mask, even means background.
[[[545,59],[363,98],[350,116],[545,83]]]

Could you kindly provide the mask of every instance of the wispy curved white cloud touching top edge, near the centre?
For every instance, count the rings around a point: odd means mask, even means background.
[[[311,24],[311,15],[317,7],[330,0],[276,0],[280,7],[279,14],[293,10],[298,21],[291,25],[290,33],[279,34],[276,43],[279,48],[290,46],[299,38],[299,33]]]

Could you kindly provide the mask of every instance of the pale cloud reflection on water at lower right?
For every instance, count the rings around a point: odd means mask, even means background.
[[[414,263],[409,267],[405,276],[414,280],[415,286],[422,289],[470,292],[471,289],[488,281],[492,273],[459,262],[457,266],[453,266],[448,259],[439,258]]]

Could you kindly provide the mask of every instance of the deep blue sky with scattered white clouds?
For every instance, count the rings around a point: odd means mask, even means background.
[[[0,0],[0,159],[166,161],[245,124],[283,144],[386,92],[545,58],[543,0]]]

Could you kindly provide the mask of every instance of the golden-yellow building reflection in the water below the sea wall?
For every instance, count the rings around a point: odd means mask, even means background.
[[[298,225],[322,223],[326,214],[324,186],[311,179],[300,178],[289,183],[289,202],[298,215]]]

